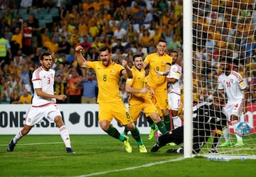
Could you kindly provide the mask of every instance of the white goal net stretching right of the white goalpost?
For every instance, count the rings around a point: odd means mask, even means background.
[[[251,134],[242,137],[244,146],[218,147],[218,155],[256,156],[256,1],[201,0],[193,6],[193,104],[208,102],[218,90],[218,75],[222,72],[220,59],[233,58],[233,70],[240,73],[248,88],[247,112],[240,121],[250,124]],[[183,4],[186,13],[186,4]],[[184,42],[186,39],[183,39]],[[184,53],[186,48],[183,48]],[[184,58],[186,65],[187,58]],[[184,95],[186,99],[186,95]],[[230,141],[237,142],[235,127],[229,123]],[[199,154],[208,155],[212,149],[212,133]],[[220,143],[224,143],[224,137]],[[210,154],[213,155],[213,154]]]

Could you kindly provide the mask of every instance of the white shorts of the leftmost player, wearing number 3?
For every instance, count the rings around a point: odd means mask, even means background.
[[[57,104],[49,104],[46,107],[31,107],[28,109],[25,124],[33,126],[34,124],[41,122],[43,117],[48,119],[50,122],[54,122],[54,119],[57,116],[62,117]]]

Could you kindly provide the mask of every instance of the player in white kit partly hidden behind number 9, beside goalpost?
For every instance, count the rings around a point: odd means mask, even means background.
[[[174,129],[181,127],[181,118],[178,117],[178,109],[181,107],[181,88],[178,80],[181,79],[182,68],[176,63],[178,53],[171,51],[170,53],[172,60],[171,70],[169,75],[166,76],[168,81],[168,100],[171,109],[171,118],[173,120]]]

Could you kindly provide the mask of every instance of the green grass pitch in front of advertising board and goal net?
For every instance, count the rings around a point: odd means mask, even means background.
[[[207,161],[198,157],[182,159],[181,154],[166,154],[170,146],[151,153],[155,140],[142,135],[149,151],[140,154],[133,148],[127,154],[122,143],[104,135],[71,135],[77,154],[67,154],[59,135],[27,135],[18,141],[13,152],[6,146],[12,136],[0,136],[0,176],[251,176],[255,160]]]

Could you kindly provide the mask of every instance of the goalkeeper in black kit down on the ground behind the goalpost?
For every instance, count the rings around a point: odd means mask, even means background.
[[[213,141],[213,149],[217,149],[220,134],[222,134],[223,127],[227,124],[227,117],[222,109],[223,102],[223,97],[215,92],[213,102],[202,102],[193,107],[193,153],[198,153],[201,150],[208,141],[211,132],[215,129],[218,129],[218,131]],[[159,151],[162,146],[171,142],[175,144],[183,143],[183,126],[174,129],[168,134],[159,136],[151,152]],[[169,149],[166,152],[183,153],[183,147]]]

